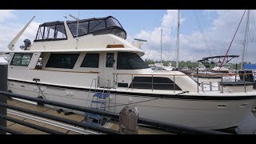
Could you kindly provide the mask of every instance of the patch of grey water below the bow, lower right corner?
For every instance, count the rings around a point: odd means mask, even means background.
[[[237,129],[238,134],[256,134],[256,118],[253,113],[246,115]]]

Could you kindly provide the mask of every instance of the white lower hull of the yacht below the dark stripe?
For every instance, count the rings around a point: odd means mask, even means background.
[[[33,82],[9,80],[9,90],[14,94],[24,94],[37,98],[42,96],[52,101],[77,106],[91,106],[93,90],[50,86]],[[129,100],[130,99],[130,100]],[[238,126],[242,118],[255,107],[256,94],[248,97],[211,97],[206,95],[139,94],[132,90],[110,92],[106,110],[119,113],[123,106],[137,106],[139,117],[182,126],[192,126],[206,130],[225,129]]]

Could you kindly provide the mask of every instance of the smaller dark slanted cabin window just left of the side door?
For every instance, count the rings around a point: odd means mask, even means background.
[[[99,54],[87,53],[83,59],[81,67],[93,67],[98,68]]]

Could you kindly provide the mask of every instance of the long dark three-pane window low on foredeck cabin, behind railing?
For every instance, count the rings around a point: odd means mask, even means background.
[[[179,86],[174,84],[170,78],[164,77],[153,77],[153,79],[152,77],[134,77],[129,87],[134,89],[150,90],[174,90],[175,87],[175,90],[182,90]]]

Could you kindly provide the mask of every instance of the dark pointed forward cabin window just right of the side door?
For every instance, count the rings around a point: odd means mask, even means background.
[[[135,53],[118,52],[118,70],[146,69],[149,66]]]

